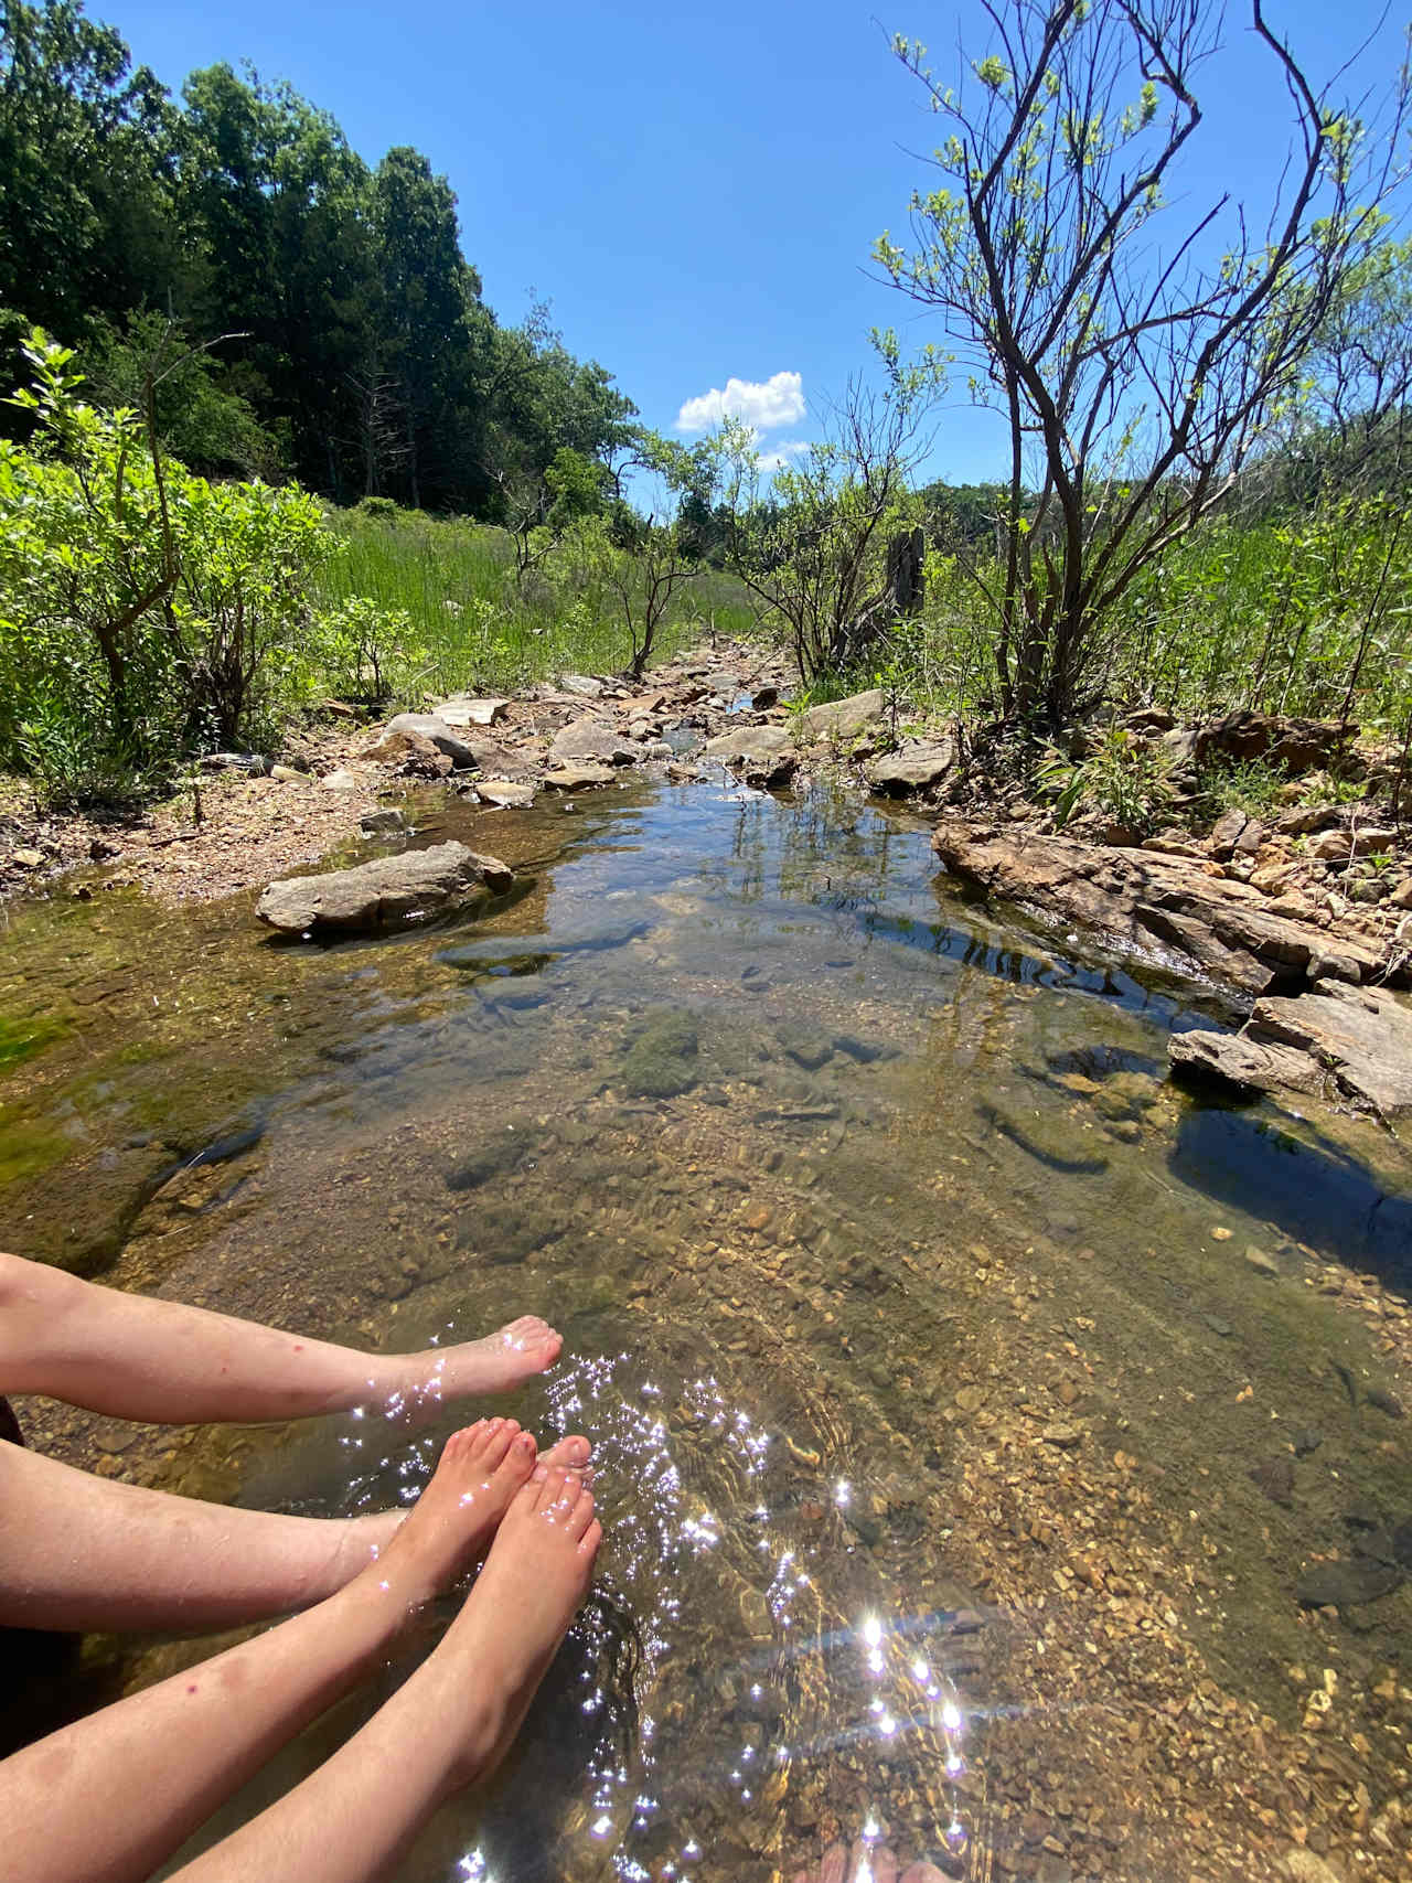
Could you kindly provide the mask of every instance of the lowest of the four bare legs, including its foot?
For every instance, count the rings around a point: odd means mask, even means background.
[[[505,1514],[441,1646],[311,1778],[173,1883],[373,1883],[431,1811],[505,1757],[601,1542],[593,1499],[552,1471]]]

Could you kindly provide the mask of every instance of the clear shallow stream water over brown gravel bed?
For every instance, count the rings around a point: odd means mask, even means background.
[[[836,1834],[1043,1883],[1290,1838],[1403,1875],[1412,1584],[1295,1585],[1412,1516],[1406,1154],[1173,1088],[1190,994],[968,904],[857,798],[416,804],[516,896],[316,949],[98,894],[0,953],[0,1247],[361,1344],[565,1333],[499,1408],[593,1439],[597,1597],[407,1883],[753,1883]],[[456,1424],[23,1410],[311,1514],[412,1499]],[[28,1719],[203,1651],[90,1644]]]

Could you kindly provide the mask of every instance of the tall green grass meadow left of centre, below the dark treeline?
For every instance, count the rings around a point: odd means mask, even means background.
[[[559,672],[619,672],[631,646],[618,595],[570,546],[516,574],[503,529],[420,512],[333,512],[343,554],[320,576],[316,606],[365,597],[401,610],[407,659],[395,691],[416,699],[461,689],[512,691]],[[712,633],[746,636],[755,608],[730,576],[702,571],[672,599],[653,661]]]

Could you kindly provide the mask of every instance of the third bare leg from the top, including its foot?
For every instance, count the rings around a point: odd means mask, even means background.
[[[456,1433],[388,1542],[345,1589],[186,1674],[0,1762],[6,1883],[137,1883],[271,1753],[386,1655],[409,1614],[484,1546],[535,1471],[514,1420]],[[544,1473],[544,1480],[559,1478]]]

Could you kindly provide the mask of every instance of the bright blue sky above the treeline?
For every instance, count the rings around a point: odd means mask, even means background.
[[[887,11],[874,13],[872,6]],[[892,9],[896,8],[896,9]],[[134,56],[179,89],[196,66],[250,58],[329,109],[369,160],[425,151],[459,196],[461,239],[486,298],[518,320],[548,298],[567,345],[599,358],[672,431],[729,380],[768,412],[766,446],[808,437],[819,401],[868,363],[868,330],[941,335],[934,316],[870,279],[883,228],[900,233],[936,141],[887,34],[923,38],[938,72],[979,41],[971,0],[719,0],[612,8],[561,0],[401,9],[369,0],[88,0]],[[1374,34],[1356,85],[1403,56],[1399,17],[1371,0],[1267,0],[1310,77],[1331,77]],[[1269,188],[1288,104],[1229,9],[1226,55],[1201,94],[1207,121],[1188,201]],[[798,407],[804,405],[800,412]],[[932,469],[1000,469],[998,435],[964,390],[941,412]]]

